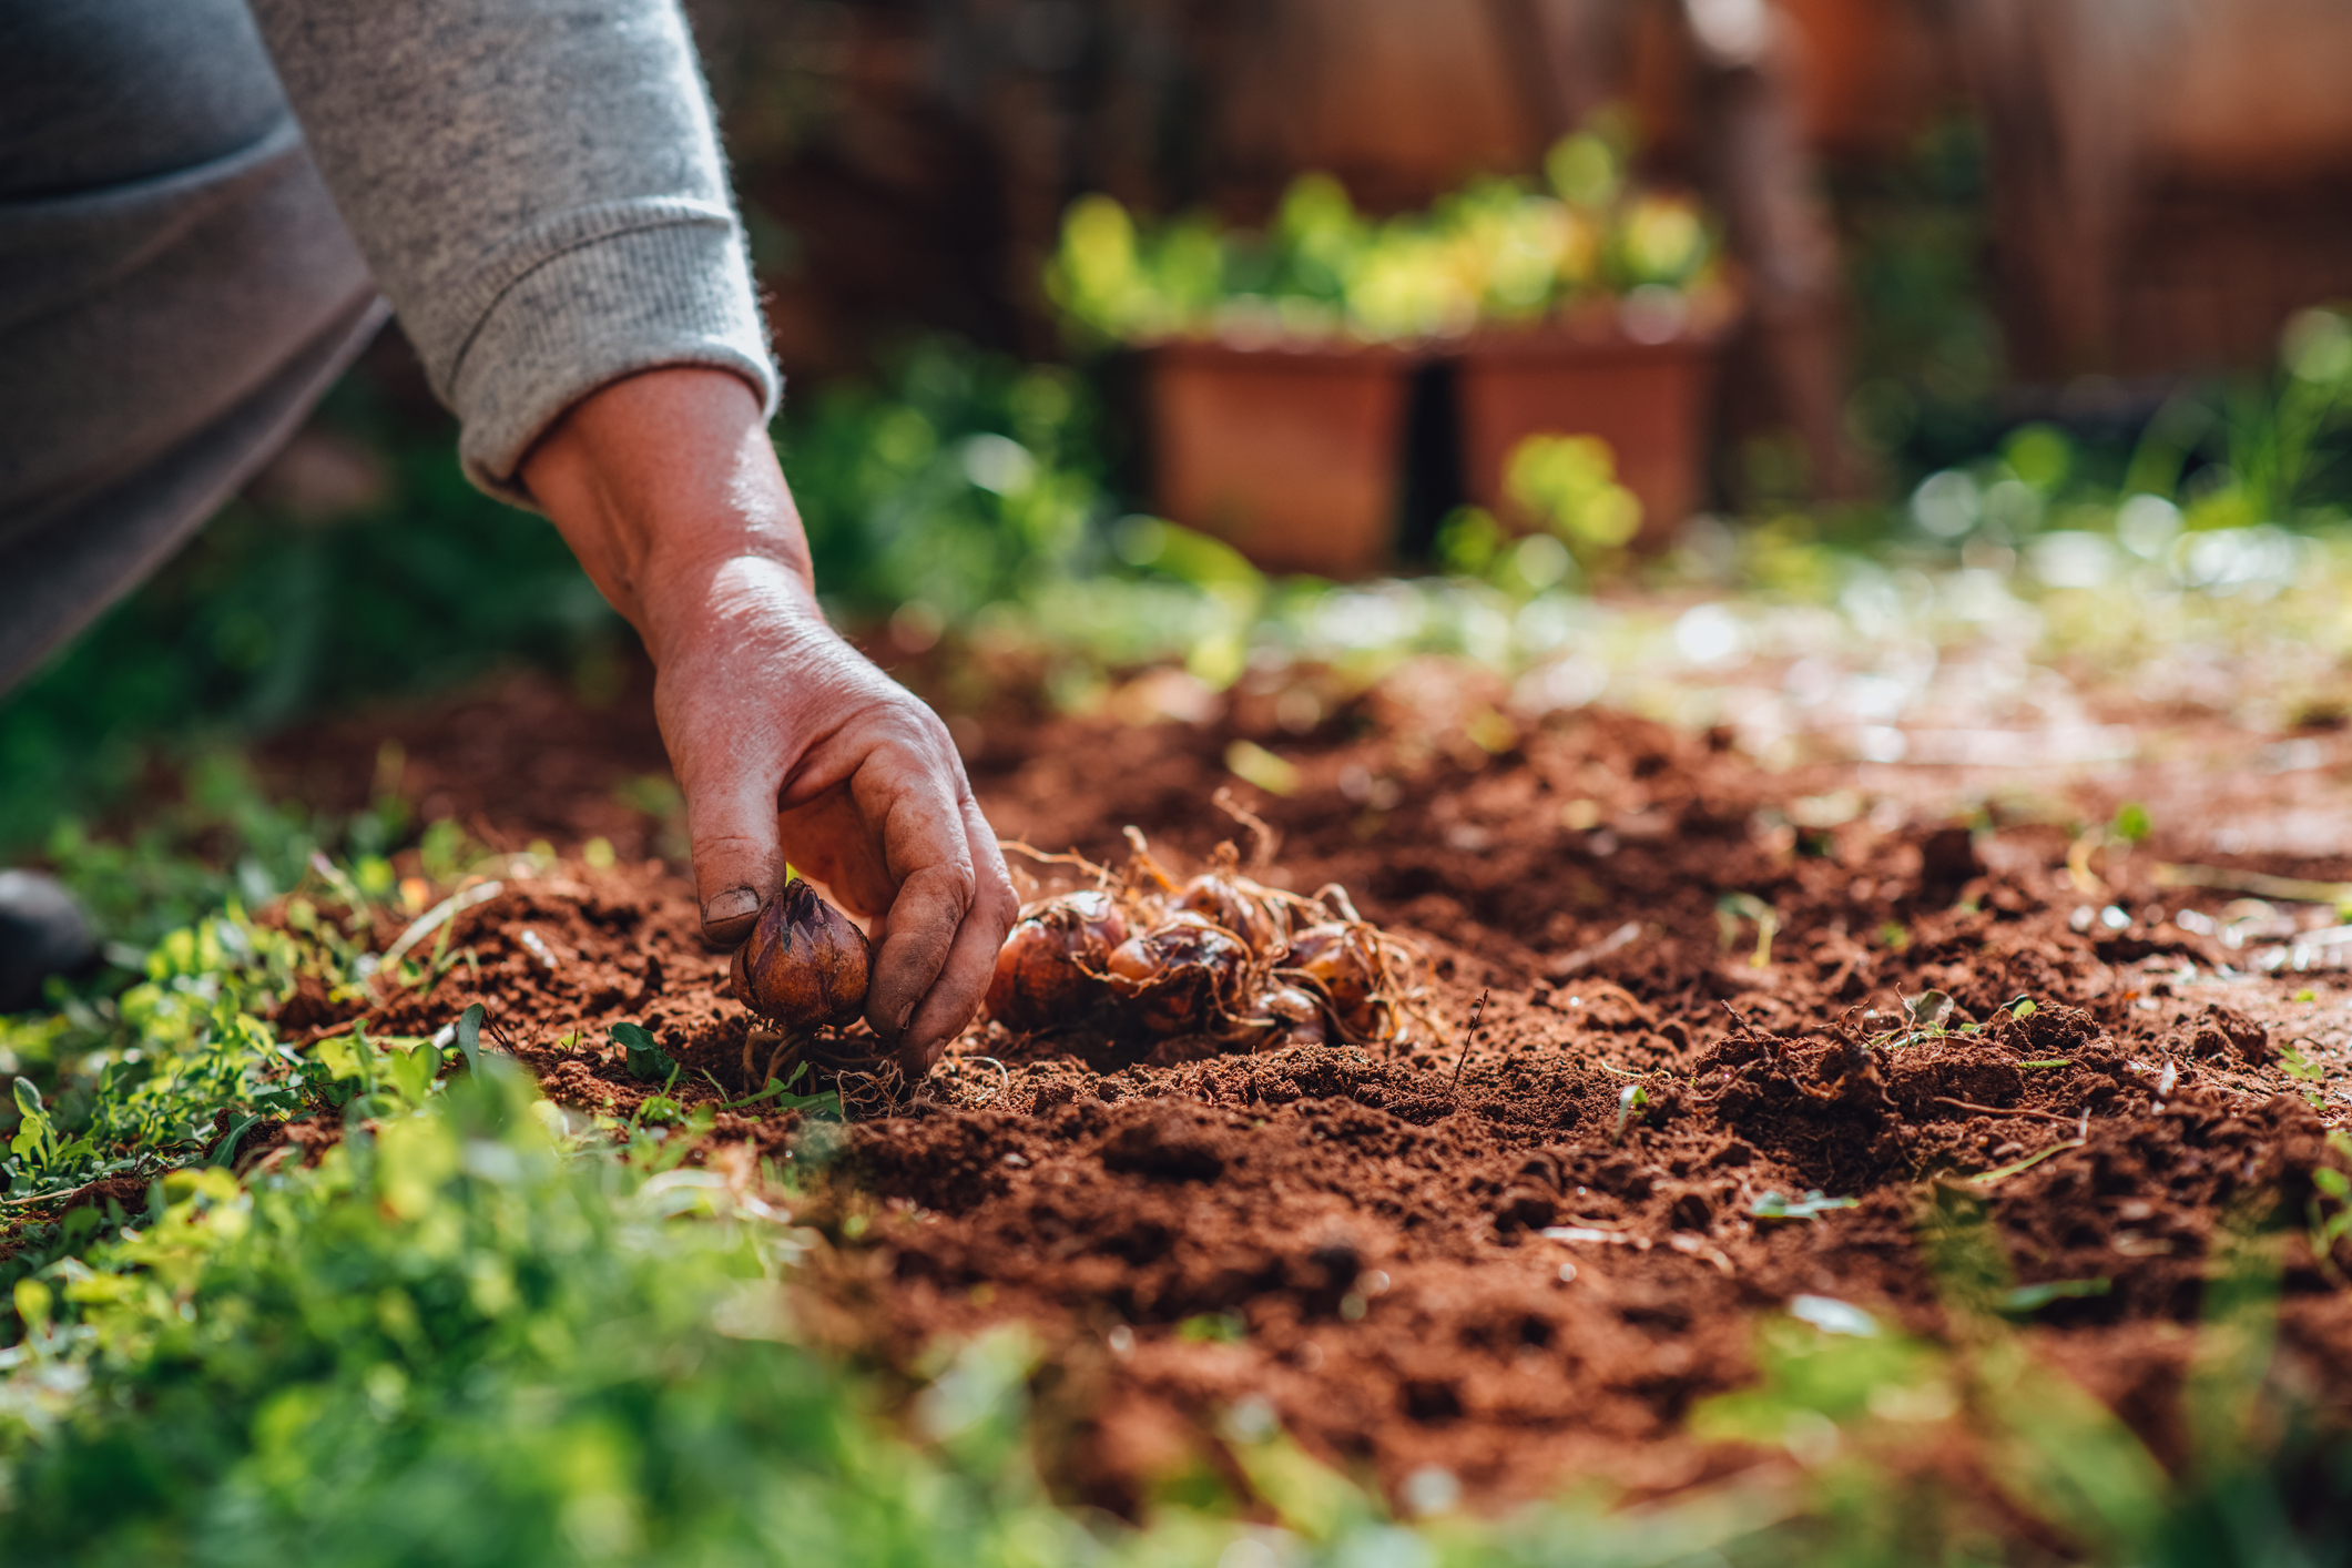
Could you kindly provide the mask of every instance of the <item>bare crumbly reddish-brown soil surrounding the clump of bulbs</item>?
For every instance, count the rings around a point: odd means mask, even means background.
[[[1282,736],[1301,785],[1251,804],[1282,835],[1268,882],[1341,882],[1425,945],[1446,1032],[1117,1065],[1103,1041],[974,1030],[800,1178],[790,1201],[830,1239],[800,1291],[804,1333],[913,1366],[943,1333],[1033,1324],[1061,1418],[1054,1472],[1115,1509],[1216,1465],[1216,1413],[1247,1396],[1388,1486],[1442,1465],[1486,1502],[1564,1476],[1658,1493],[1755,1462],[1679,1420],[1752,1378],[1757,1314],[1813,1293],[1945,1324],[1917,1244],[1943,1178],[1990,1206],[2020,1284],[2112,1281],[2039,1309],[2030,1333],[2180,1458],[2171,1326],[2197,1321],[2216,1227],[2249,1206],[2300,1215],[2333,1159],[2324,1133],[2352,1095],[2338,971],[2244,973],[2258,945],[2178,924],[2232,896],[2157,886],[2161,832],[2070,872],[2072,835],[2049,820],[1971,837],[1915,802],[1792,827],[1797,797],[1851,773],[1773,776],[1724,736],[1599,712],[1489,755],[1409,698],[1392,682]],[[468,769],[435,738],[452,731],[402,733],[409,766],[496,835],[499,806],[468,799]],[[456,733],[590,802],[644,769],[635,708],[572,741],[534,741],[513,712]],[[1004,717],[974,776],[1004,837],[1117,860],[1134,823],[1195,865],[1232,832],[1209,797],[1237,733],[1275,738],[1247,703],[1209,726]],[[2096,785],[2117,790],[2129,780]],[[572,820],[546,795],[527,811],[532,832]],[[687,1103],[764,1081],[771,1041],[722,997],[724,954],[699,940],[680,867],[635,860],[654,825],[614,825],[604,804],[574,816],[630,863],[572,863],[461,914],[452,947],[470,961],[372,1025],[430,1032],[482,999],[548,1093],[581,1107],[644,1095],[604,1041],[616,1020],[687,1065]],[[2178,832],[2204,844],[2209,823]],[[1769,954],[1745,922],[1726,943],[1726,893],[1776,910]],[[2077,931],[2084,905],[2119,910],[2122,929]],[[1889,1044],[1898,999],[1924,990],[1955,999],[1955,1030],[1987,1027]],[[341,1013],[303,994],[282,1023],[315,1037]],[[1630,1110],[1628,1086],[1644,1093]],[[781,1159],[797,1131],[724,1112],[713,1147]],[[1757,1215],[1766,1194],[1816,1190],[1856,1206]],[[2345,1265],[2352,1248],[2324,1260],[2288,1239],[2281,1349],[2336,1415],[2352,1406]]]

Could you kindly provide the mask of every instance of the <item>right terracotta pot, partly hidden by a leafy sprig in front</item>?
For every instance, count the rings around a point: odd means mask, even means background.
[[[1635,545],[1668,543],[1703,494],[1717,360],[1712,336],[1635,343],[1531,329],[1472,339],[1456,371],[1470,498],[1503,522],[1536,527],[1503,494],[1512,449],[1529,435],[1597,435],[1616,454],[1618,484],[1642,501]]]

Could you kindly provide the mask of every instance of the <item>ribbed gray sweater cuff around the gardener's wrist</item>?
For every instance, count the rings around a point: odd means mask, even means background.
[[[532,505],[515,470],[588,393],[668,364],[727,369],[774,418],[783,390],[750,292],[743,242],[724,212],[644,214],[520,270],[487,303],[449,371],[463,421],[459,461],[494,496]]]

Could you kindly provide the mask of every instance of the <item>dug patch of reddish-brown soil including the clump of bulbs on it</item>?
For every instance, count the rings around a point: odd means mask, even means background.
[[[1129,1514],[1218,1469],[1237,1408],[1406,1505],[1432,1474],[1494,1507],[1811,1465],[1835,1427],[1722,1399],[1776,1335],[1893,1354],[1971,1321],[2178,1465],[2185,1331],[2249,1239],[2279,1354],[2345,1408],[2336,917],[2244,886],[2352,867],[2206,875],[2169,849],[2192,823],[2084,849],[1924,797],[1792,830],[1853,780],[1602,712],[1494,755],[1327,726],[1287,743],[1291,795],[1221,799],[1237,733],[995,726],[974,783],[1030,903],[920,1084],[866,1060],[847,922],[840,983],[793,971],[762,1018],[762,954],[734,978],[682,867],[628,858],[508,879],[449,917],[466,964],[365,1009],[296,992],[280,1027],[480,1001],[557,1103],[659,1095],[691,1159],[748,1145],[826,1237],[795,1335],[913,1368],[1028,1324],[1051,1486]],[[779,940],[830,931],[802,914]],[[823,1138],[811,1091],[847,1107]],[[1867,1396],[1891,1465],[1976,1474],[1950,1382]]]

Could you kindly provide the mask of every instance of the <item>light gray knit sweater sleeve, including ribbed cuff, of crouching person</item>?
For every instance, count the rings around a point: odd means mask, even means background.
[[[675,0],[254,0],[287,99],[492,494],[595,388],[779,376]]]

